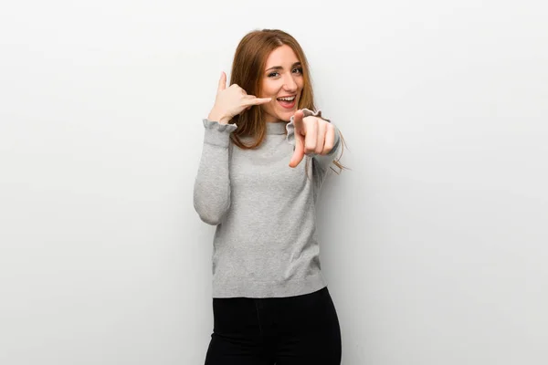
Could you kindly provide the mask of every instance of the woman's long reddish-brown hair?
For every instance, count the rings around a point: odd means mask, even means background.
[[[304,51],[293,36],[279,29],[254,30],[240,40],[232,62],[230,85],[237,84],[246,90],[248,95],[258,96],[261,91],[261,76],[266,68],[267,58],[274,49],[284,45],[291,47],[302,67],[303,88],[297,108],[316,110],[309,64]],[[237,124],[237,130],[231,133],[230,137],[234,144],[241,149],[254,149],[262,143],[267,130],[263,114],[260,106],[255,105],[249,110],[243,110],[229,121]],[[245,143],[243,141],[245,137],[251,137],[252,141],[249,144]],[[343,150],[342,135],[341,143]],[[344,168],[339,159],[333,163],[341,170]]]

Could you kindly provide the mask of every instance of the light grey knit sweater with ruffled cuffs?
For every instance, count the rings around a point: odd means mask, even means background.
[[[321,111],[304,110],[309,115]],[[236,124],[204,120],[204,127],[194,205],[205,223],[216,225],[213,297],[291,297],[325,287],[315,203],[341,149],[339,131],[330,154],[305,156],[290,168],[292,119],[267,123],[254,150],[230,141]]]

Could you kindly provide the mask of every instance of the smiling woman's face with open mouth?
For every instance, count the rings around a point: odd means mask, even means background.
[[[303,83],[302,67],[293,49],[287,45],[274,49],[267,58],[258,95],[259,98],[272,98],[260,106],[267,115],[267,122],[290,120],[297,111]]]

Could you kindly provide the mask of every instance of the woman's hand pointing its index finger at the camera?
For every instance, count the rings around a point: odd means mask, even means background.
[[[329,121],[312,116],[303,117],[302,110],[297,110],[293,116],[295,151],[290,167],[297,167],[305,154],[328,154],[335,142],[335,127]]]

